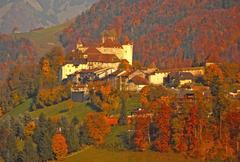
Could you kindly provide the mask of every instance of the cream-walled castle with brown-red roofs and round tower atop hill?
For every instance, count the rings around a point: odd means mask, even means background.
[[[120,44],[113,36],[103,36],[99,44],[84,44],[78,40],[76,48],[72,51],[80,59],[66,62],[60,69],[59,78],[64,80],[75,72],[94,69],[110,68],[117,70],[122,60],[132,65],[133,44],[125,42]]]

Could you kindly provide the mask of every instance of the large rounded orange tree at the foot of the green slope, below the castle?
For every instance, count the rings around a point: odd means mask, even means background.
[[[110,132],[110,125],[103,113],[89,113],[85,121],[88,136],[96,144],[102,144],[105,136]]]

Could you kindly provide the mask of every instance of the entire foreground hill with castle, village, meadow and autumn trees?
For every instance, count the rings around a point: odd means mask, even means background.
[[[53,48],[39,64],[14,67],[0,84],[4,160],[61,160],[88,146],[239,158],[238,64],[209,56],[195,67],[143,66],[129,39],[110,34],[74,46],[67,54]]]

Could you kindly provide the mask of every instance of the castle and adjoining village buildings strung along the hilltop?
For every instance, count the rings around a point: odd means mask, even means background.
[[[109,36],[103,36],[98,44],[87,44],[79,40],[76,48],[72,50],[73,57],[61,66],[58,78],[62,82],[73,83],[73,101],[88,99],[89,92],[96,88],[94,86],[104,84],[129,92],[140,92],[149,85],[162,85],[172,89],[185,87],[189,94],[197,87],[209,90],[208,87],[195,84],[197,79],[203,77],[204,66],[165,70],[156,67],[131,68],[133,48],[130,41],[120,44],[116,38]],[[205,66],[212,64],[214,63],[207,62]]]

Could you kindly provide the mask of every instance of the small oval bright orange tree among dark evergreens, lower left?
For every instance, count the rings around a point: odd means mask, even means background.
[[[52,138],[52,150],[56,159],[63,159],[68,153],[68,146],[65,137],[61,133],[56,133]]]

